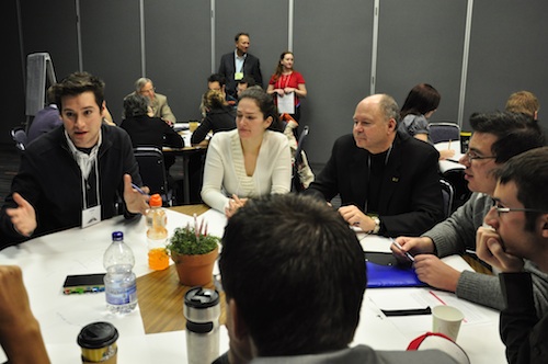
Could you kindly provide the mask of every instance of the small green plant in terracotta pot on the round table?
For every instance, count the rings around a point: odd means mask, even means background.
[[[203,221],[202,221],[203,223]],[[219,254],[218,237],[207,235],[207,226],[179,227],[168,243],[179,282],[186,286],[205,286],[213,280],[213,268]]]

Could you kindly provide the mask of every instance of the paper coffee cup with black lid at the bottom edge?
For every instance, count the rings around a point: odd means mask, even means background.
[[[118,330],[110,322],[93,322],[78,334],[82,363],[116,364]]]

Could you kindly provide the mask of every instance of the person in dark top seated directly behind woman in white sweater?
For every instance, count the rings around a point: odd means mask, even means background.
[[[204,140],[210,130],[215,134],[236,128],[236,110],[227,103],[221,92],[208,90],[202,96],[202,105],[205,117],[194,133],[192,133],[192,144],[198,144]]]

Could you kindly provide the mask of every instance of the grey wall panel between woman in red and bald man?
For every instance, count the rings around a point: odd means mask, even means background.
[[[294,31],[295,68],[308,90],[300,121],[310,126],[306,151],[324,163],[369,93],[373,1],[295,1]]]

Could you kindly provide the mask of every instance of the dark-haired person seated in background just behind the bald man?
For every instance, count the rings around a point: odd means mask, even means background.
[[[419,83],[409,91],[403,106],[401,106],[401,122],[399,130],[404,132],[416,139],[432,143],[430,138],[429,118],[436,112],[442,96],[434,87],[429,83]],[[455,156],[455,150],[439,150],[439,159]]]

